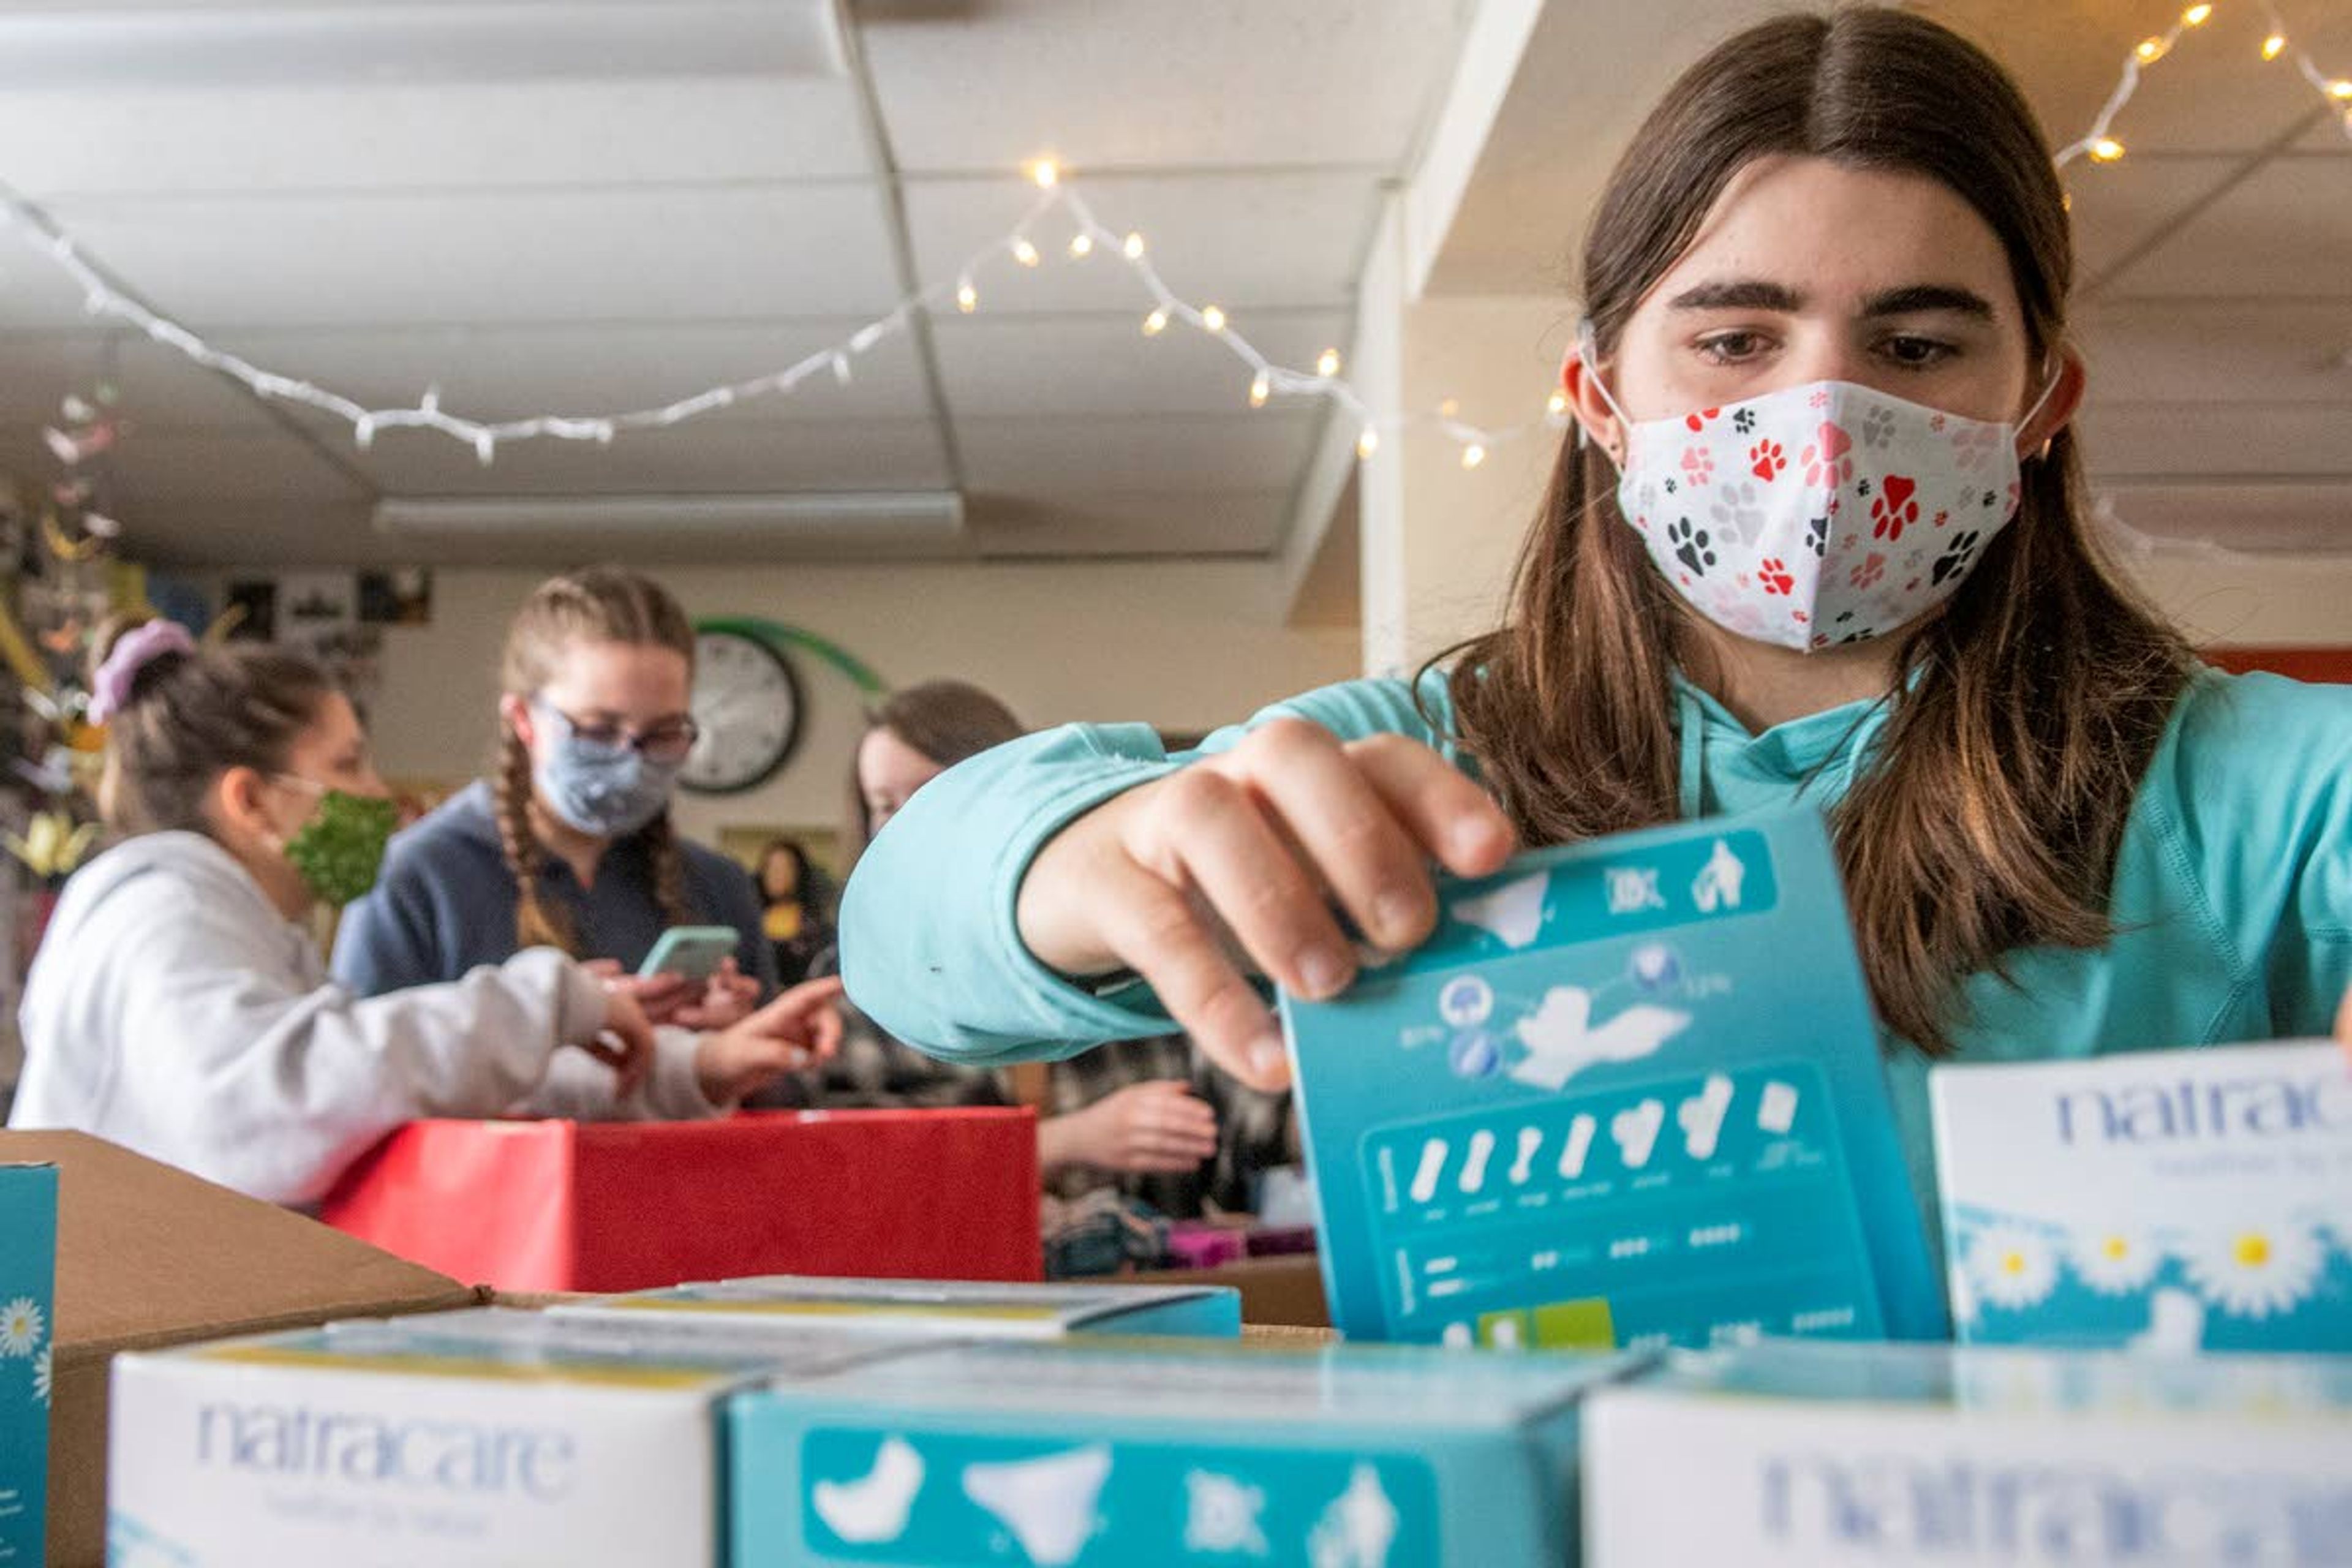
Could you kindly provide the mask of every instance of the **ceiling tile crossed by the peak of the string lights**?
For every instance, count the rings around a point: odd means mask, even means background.
[[[1143,235],[1150,263],[1178,299],[1228,310],[1352,301],[1381,197],[1367,174],[1105,176],[1080,193],[1098,223]],[[1037,190],[1018,179],[910,183],[908,228],[924,287],[953,287],[974,268],[988,313],[1122,310],[1141,322],[1150,289],[1105,247],[1070,261],[1077,223],[1063,207],[1035,226],[1042,266],[1011,259],[1004,240],[1035,200]]]

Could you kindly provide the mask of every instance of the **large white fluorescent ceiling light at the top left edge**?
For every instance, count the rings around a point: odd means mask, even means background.
[[[826,0],[92,5],[0,12],[0,87],[837,78]]]

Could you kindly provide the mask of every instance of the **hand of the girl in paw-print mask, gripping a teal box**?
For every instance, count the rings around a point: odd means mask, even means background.
[[[1428,745],[1275,719],[1063,827],[1016,914],[1042,964],[1134,969],[1211,1060],[1272,1091],[1289,1060],[1235,947],[1296,994],[1334,997],[1355,978],[1334,900],[1376,947],[1414,947],[1437,924],[1430,860],[1479,877],[1512,839],[1501,806]]]

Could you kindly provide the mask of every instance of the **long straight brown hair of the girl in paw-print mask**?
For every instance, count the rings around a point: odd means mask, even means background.
[[[1999,235],[2034,357],[2065,341],[2072,235],[2032,110],[1957,33],[1872,7],[1750,28],[1649,115],[1585,240],[1602,355],[1731,179],[1773,153],[1945,183]],[[1597,444],[1562,442],[1508,623],[1454,651],[1461,741],[1529,844],[1679,816],[1670,677],[1705,675],[1705,656]],[[1945,1053],[1966,976],[2110,938],[2117,842],[2192,656],[2103,564],[2060,430],[2025,463],[2016,522],[1898,663],[1832,830],[1879,1016]]]

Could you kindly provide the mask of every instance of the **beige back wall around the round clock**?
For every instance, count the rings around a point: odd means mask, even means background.
[[[470,776],[487,755],[499,639],[536,571],[442,571],[430,628],[390,628],[374,710],[390,776]],[[656,571],[687,611],[760,614],[830,637],[889,682],[957,675],[1025,722],[1145,719],[1211,729],[1357,668],[1350,628],[1277,623],[1254,564],[687,567]],[[689,835],[722,825],[830,827],[861,733],[858,696],[795,658],[807,715],[793,762],[736,797],[682,797]]]

